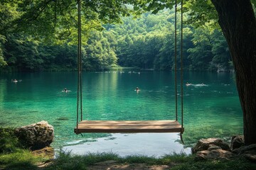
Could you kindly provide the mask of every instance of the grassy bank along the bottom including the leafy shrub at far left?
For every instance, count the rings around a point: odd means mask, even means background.
[[[145,157],[140,155],[132,155],[128,157],[119,157],[113,153],[97,153],[86,154],[83,156],[72,155],[70,152],[57,153],[55,159],[50,157],[34,156],[31,151],[22,149],[18,144],[18,140],[10,130],[0,130],[1,146],[0,146],[0,169],[93,169],[95,164],[101,162],[102,169],[107,166],[129,165],[129,167],[137,168],[139,164],[150,165],[168,165],[170,169],[256,169],[256,164],[247,161],[247,159],[234,158],[232,160],[212,160],[212,161],[195,161],[195,155],[171,154],[164,157]],[[108,164],[104,163],[109,161]],[[95,169],[97,169],[95,167]]]

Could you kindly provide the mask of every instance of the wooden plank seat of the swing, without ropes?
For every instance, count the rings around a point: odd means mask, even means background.
[[[181,132],[176,120],[82,120],[75,133],[82,132]]]

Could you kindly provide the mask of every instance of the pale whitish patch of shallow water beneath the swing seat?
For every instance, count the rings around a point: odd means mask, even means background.
[[[190,147],[184,147],[178,140],[179,133],[117,133],[110,137],[100,137],[95,142],[85,142],[62,148],[71,154],[114,153],[120,157],[143,155],[148,157],[163,157],[171,153],[191,154]],[[75,144],[73,141],[70,142]]]

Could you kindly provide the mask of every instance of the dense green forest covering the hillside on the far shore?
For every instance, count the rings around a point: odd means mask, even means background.
[[[3,72],[72,71],[77,69],[77,45],[69,37],[51,37],[26,33],[18,5],[1,2],[0,69]],[[180,17],[180,16],[178,16]],[[227,72],[233,70],[227,42],[220,28],[195,26],[183,22],[183,68]],[[88,21],[89,22],[89,21]],[[93,22],[93,21],[90,21]],[[136,69],[174,69],[174,9],[141,16],[122,17],[122,23],[92,23],[94,29],[82,30],[82,69],[106,70],[112,67]],[[178,18],[178,45],[181,23]],[[43,29],[43,28],[42,28]],[[48,31],[48,30],[41,30]],[[85,33],[86,32],[86,33]],[[47,35],[48,33],[46,33]],[[62,37],[61,37],[62,36]],[[61,38],[62,40],[61,40]],[[55,39],[55,40],[54,40]],[[73,38],[75,39],[75,38]],[[178,48],[179,50],[179,48]]]

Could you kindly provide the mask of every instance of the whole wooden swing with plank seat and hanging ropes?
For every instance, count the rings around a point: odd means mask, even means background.
[[[177,1],[175,2],[175,101],[176,120],[82,120],[81,2],[78,0],[78,101],[75,133],[83,132],[179,132],[183,133],[183,1],[181,0],[181,123],[178,123],[177,95]],[[80,116],[79,116],[80,115]],[[80,119],[79,119],[80,117]],[[182,136],[181,136],[182,141]]]

